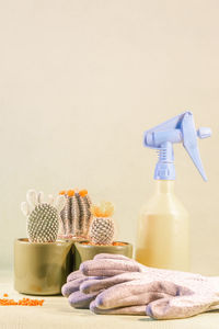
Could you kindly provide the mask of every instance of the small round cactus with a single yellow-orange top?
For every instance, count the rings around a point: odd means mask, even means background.
[[[102,202],[100,206],[91,206],[94,219],[91,223],[90,240],[94,245],[111,245],[114,239],[115,225],[110,218],[114,213],[111,202]]]

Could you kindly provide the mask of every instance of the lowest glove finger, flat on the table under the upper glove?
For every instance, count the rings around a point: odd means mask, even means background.
[[[146,315],[146,305],[135,305],[119,308],[102,309],[95,304],[95,300],[91,302],[90,310],[95,314],[107,314],[107,315]]]

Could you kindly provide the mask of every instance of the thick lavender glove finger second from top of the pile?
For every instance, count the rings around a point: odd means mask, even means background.
[[[83,262],[80,271],[89,276],[113,276],[125,272],[140,272],[140,266],[135,261],[99,259]]]

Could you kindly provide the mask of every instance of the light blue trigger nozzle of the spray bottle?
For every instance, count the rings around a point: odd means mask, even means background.
[[[145,133],[143,145],[159,151],[159,161],[155,166],[154,179],[175,179],[173,144],[182,143],[200,175],[207,181],[199,156],[197,137],[203,139],[210,136],[211,129],[208,127],[200,127],[196,131],[192,112],[184,112],[147,131]]]

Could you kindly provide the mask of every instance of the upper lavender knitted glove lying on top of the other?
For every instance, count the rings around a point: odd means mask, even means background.
[[[87,275],[108,276],[80,286],[82,293],[99,293],[90,305],[96,314],[147,314],[170,319],[219,309],[219,277],[147,268],[113,254],[99,254],[80,269]],[[117,273],[123,274],[114,275]]]

